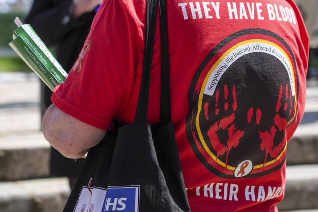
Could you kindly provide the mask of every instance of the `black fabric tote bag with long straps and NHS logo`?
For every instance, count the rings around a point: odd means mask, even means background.
[[[190,211],[171,121],[165,0],[159,0],[162,52],[160,123],[156,126],[147,123],[157,4],[157,0],[147,0],[143,75],[135,122],[120,127],[117,132],[107,132],[105,138],[89,150],[63,212]],[[105,190],[105,198],[97,203],[94,196],[83,203],[84,190],[87,194],[97,195],[96,189]],[[134,201],[130,201],[130,196],[124,197],[125,192],[132,195]]]

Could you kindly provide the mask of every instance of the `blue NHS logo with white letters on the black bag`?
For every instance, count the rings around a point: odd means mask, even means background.
[[[140,186],[108,187],[101,212],[139,212]]]

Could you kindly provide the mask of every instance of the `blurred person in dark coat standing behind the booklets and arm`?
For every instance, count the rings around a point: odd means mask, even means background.
[[[34,0],[25,22],[47,46],[54,46],[65,71],[76,61],[102,0]],[[51,90],[41,82],[41,117],[52,104]],[[83,159],[69,159],[51,147],[50,175],[67,176],[72,187]]]

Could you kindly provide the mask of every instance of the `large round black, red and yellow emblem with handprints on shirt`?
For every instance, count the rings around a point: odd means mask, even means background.
[[[190,87],[186,131],[194,153],[222,178],[279,169],[297,94],[295,59],[281,37],[248,29],[225,38],[203,60]]]

